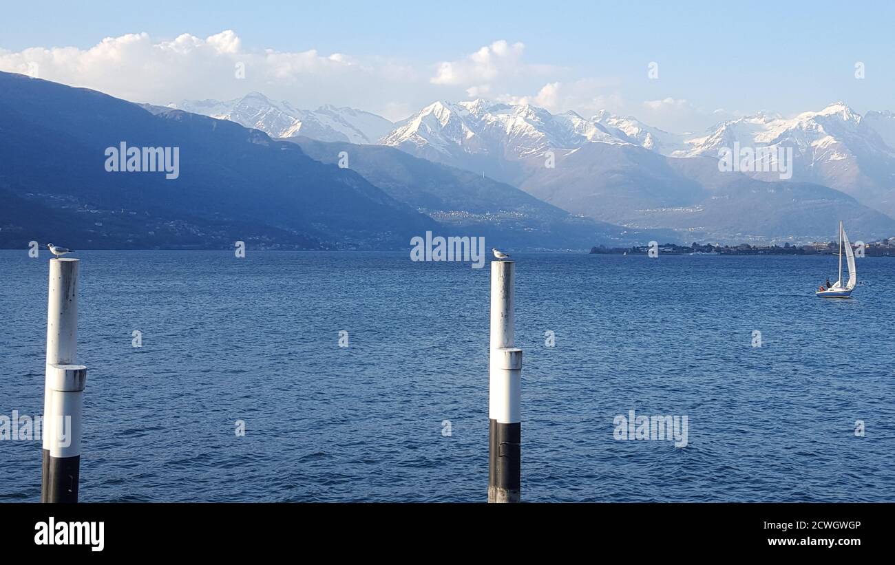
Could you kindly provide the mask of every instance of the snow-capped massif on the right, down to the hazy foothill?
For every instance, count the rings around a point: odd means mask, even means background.
[[[640,146],[663,156],[714,159],[725,148],[732,151],[738,144],[752,151],[767,148],[763,149],[768,151],[764,158],[769,163],[778,155],[770,149],[791,149],[791,164],[781,160],[775,164],[777,168],[750,171],[756,157],[746,155],[743,158],[752,161],[740,169],[763,181],[828,186],[895,215],[895,114],[872,112],[864,117],[843,103],[794,118],[746,116],[721,122],[701,135],[662,131],[634,117],[606,111],[585,120],[574,112],[550,114],[533,105],[486,100],[436,102],[396,126],[381,143],[517,186],[544,168],[547,151],[566,156],[588,143]],[[781,164],[791,166],[790,176],[781,176]]]

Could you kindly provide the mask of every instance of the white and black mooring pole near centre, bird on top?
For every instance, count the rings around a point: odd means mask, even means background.
[[[491,261],[488,502],[519,502],[522,350],[513,347],[516,263]]]

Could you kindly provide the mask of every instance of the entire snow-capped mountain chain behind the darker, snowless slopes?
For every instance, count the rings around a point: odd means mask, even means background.
[[[601,182],[594,180],[596,175],[609,175],[612,186],[627,187],[613,193],[613,202],[601,200],[599,210],[585,206],[586,198],[566,206],[575,214],[604,221],[620,214],[616,210],[609,215],[619,202],[629,201],[632,207],[645,209],[644,198],[631,196],[638,191],[644,191],[641,197],[653,194],[659,202],[668,190],[683,190],[684,185],[668,173],[667,167],[653,164],[639,153],[644,149],[678,160],[708,158],[716,163],[721,151],[733,150],[737,144],[752,151],[790,150],[788,176],[781,176],[779,170],[762,171],[760,167],[750,171],[746,162],[751,158],[754,164],[754,155],[736,158],[740,171],[756,180],[789,180],[830,187],[895,217],[895,114],[871,112],[862,116],[843,103],[792,118],[768,113],[745,116],[721,122],[698,135],[662,131],[635,117],[606,111],[585,119],[574,112],[551,114],[534,105],[484,99],[435,102],[395,124],[348,108],[299,110],[285,102],[273,103],[258,93],[226,103],[193,101],[178,107],[239,122],[274,137],[355,144],[378,142],[507,182],[560,207],[564,205],[550,192],[561,189],[556,179],[563,178],[567,188],[575,186],[575,194],[584,198],[598,193],[587,189],[588,183],[595,187]],[[592,147],[594,144],[605,150]],[[773,151],[771,160],[778,155],[782,154]],[[552,171],[548,164],[551,160],[557,168],[561,165],[566,170]],[[700,167],[704,165],[703,161]],[[673,207],[670,200],[661,207],[669,206]]]

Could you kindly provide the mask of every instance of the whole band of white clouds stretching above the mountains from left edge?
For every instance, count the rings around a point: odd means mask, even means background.
[[[316,49],[250,48],[233,30],[224,30],[207,38],[189,33],[175,38],[131,33],[104,38],[85,49],[0,49],[0,71],[37,72],[41,79],[134,102],[228,100],[259,91],[297,107],[350,105],[391,120],[403,119],[433,100],[464,97],[538,105],[553,113],[573,110],[584,117],[608,110],[635,115],[669,131],[717,122],[727,115],[703,112],[686,99],[673,97],[631,102],[622,95],[621,80],[567,80],[568,69],[525,59],[524,44],[503,39],[457,61],[431,65]]]

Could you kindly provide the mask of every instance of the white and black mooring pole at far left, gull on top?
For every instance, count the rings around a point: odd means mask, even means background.
[[[87,381],[87,367],[76,365],[79,263],[50,259],[40,502],[78,502],[81,406]]]

